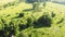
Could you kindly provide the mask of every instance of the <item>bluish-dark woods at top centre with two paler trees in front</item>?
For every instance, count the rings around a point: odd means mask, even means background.
[[[43,3],[43,7],[46,7],[46,2],[47,2],[48,0],[26,0],[26,2],[27,3],[31,3],[32,4],[32,9],[39,9],[39,5],[40,5],[40,3]]]

